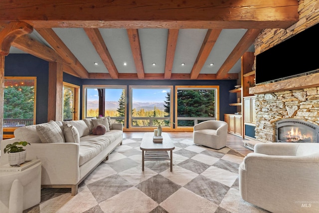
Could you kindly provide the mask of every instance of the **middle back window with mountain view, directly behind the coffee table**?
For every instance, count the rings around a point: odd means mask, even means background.
[[[130,127],[171,127],[171,86],[130,87]]]

